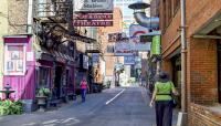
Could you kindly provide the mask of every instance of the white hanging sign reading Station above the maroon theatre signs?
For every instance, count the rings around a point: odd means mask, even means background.
[[[113,0],[74,0],[74,12],[113,12]]]

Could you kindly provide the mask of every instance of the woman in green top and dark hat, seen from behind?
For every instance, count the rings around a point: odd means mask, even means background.
[[[169,74],[159,72],[149,106],[155,102],[157,126],[172,126],[172,96],[178,95]]]

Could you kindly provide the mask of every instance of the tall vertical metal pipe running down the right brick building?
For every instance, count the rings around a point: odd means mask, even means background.
[[[181,111],[187,113],[187,85],[186,85],[186,65],[187,65],[187,40],[186,40],[186,0],[181,3]]]

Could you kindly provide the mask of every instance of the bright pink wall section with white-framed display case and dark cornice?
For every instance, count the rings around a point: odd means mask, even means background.
[[[13,99],[33,99],[35,93],[35,60],[30,34],[7,35],[4,40],[3,86],[14,91]],[[6,98],[4,96],[2,98]]]

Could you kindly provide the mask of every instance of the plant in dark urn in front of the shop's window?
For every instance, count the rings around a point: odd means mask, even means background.
[[[36,94],[38,105],[40,111],[45,111],[48,98],[50,96],[51,92],[48,87],[40,87],[39,92]]]

